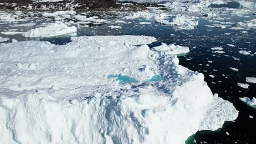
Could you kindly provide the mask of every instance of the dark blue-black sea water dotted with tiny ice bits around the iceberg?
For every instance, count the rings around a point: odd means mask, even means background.
[[[222,15],[222,22],[245,21],[255,19],[255,15],[249,17],[238,17]],[[117,18],[116,20],[121,20]],[[114,19],[112,21],[115,21]],[[256,97],[256,85],[250,83],[249,89],[237,86],[237,82],[246,83],[246,77],[256,77],[256,55],[244,56],[239,50],[256,52],[256,29],[234,30],[230,27],[210,28],[211,19],[199,19],[199,25],[193,30],[176,31],[171,26],[160,25],[154,21],[143,19],[125,20],[126,23],[107,23],[100,26],[80,27],[79,35],[148,35],[158,39],[158,42],[150,45],[156,46],[162,43],[177,44],[190,47],[188,55],[179,57],[180,64],[190,70],[199,71],[205,75],[205,81],[213,93],[230,101],[239,111],[239,116],[234,122],[226,122],[222,129],[217,131],[198,131],[189,137],[186,143],[256,143],[256,110],[242,103],[240,97]],[[42,21],[41,21],[42,22]],[[50,21],[44,21],[50,22]],[[149,25],[140,25],[139,22],[152,22]],[[25,22],[24,22],[25,23]],[[39,23],[39,22],[38,22]],[[111,29],[109,26],[121,26],[122,29]],[[235,27],[236,24],[230,24]],[[0,25],[0,30],[10,28],[9,25]],[[26,31],[23,28],[22,31]],[[242,33],[247,31],[247,33]],[[225,34],[226,33],[226,34]],[[227,33],[229,35],[227,35]],[[3,36],[3,35],[1,35]],[[20,34],[12,35],[11,38],[24,40]],[[54,44],[69,43],[70,37],[43,38],[36,40],[47,40]],[[234,47],[228,44],[235,45]],[[213,53],[211,47],[222,47],[225,53]],[[239,58],[237,61],[234,59]],[[210,62],[209,62],[210,61]],[[230,70],[230,67],[239,71]],[[214,78],[209,75],[214,75]],[[249,118],[253,116],[253,118]],[[229,135],[226,135],[226,132]]]

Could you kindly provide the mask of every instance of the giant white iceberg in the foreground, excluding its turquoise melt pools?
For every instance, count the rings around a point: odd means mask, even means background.
[[[238,115],[202,74],[150,50],[153,37],[72,40],[0,45],[0,143],[179,144]],[[109,78],[119,74],[139,82]]]

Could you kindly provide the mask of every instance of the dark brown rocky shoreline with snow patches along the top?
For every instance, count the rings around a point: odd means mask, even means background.
[[[136,2],[119,2],[114,0],[63,0],[60,2],[34,2],[31,0],[2,0],[0,10],[4,11],[57,11],[57,10],[74,10],[74,11],[137,11],[147,10],[147,7],[162,7],[154,3],[136,3]]]

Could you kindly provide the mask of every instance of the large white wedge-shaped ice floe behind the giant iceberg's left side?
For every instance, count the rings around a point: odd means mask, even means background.
[[[46,27],[39,27],[36,29],[31,29],[22,34],[23,37],[54,37],[63,34],[70,34],[77,32],[75,26],[67,26],[65,23],[51,23]]]

